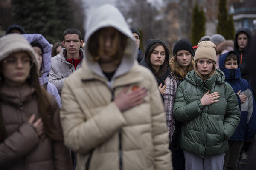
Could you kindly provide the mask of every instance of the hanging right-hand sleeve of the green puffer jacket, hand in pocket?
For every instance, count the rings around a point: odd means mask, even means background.
[[[240,122],[241,112],[238,106],[237,97],[233,88],[225,83],[226,95],[227,95],[227,108],[224,116],[224,134],[225,140],[230,139],[230,137],[235,132],[237,126]]]

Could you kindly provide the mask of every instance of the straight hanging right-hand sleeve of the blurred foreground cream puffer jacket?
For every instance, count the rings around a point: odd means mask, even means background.
[[[172,170],[172,158],[169,147],[169,136],[166,125],[166,113],[154,77],[149,78],[151,86],[149,95],[151,99],[152,135],[154,144],[155,170]]]

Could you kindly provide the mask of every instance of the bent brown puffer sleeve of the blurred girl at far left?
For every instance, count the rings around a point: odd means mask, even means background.
[[[35,148],[38,141],[38,135],[31,124],[21,125],[18,131],[0,143],[0,167],[6,167],[24,157]]]

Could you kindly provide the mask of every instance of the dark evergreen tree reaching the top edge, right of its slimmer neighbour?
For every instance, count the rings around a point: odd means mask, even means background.
[[[217,33],[226,39],[233,39],[234,31],[232,15],[227,14],[226,0],[219,0]]]

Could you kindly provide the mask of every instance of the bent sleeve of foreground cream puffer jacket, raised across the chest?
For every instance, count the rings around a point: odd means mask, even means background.
[[[70,86],[72,80],[70,77],[67,79],[61,92],[61,125],[64,142],[76,153],[87,153],[109,139],[126,124],[126,121],[113,102],[97,110],[94,109],[98,113],[86,120]]]

